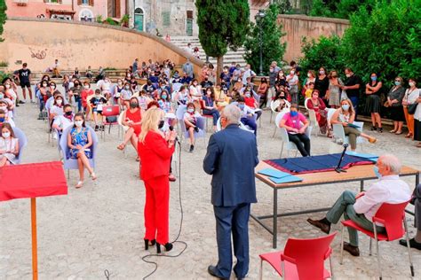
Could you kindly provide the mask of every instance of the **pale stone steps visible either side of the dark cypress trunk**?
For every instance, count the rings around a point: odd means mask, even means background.
[[[200,53],[200,59],[202,61],[206,61],[206,54],[203,51],[202,45],[199,42],[198,37],[192,37],[192,36],[174,36],[171,37],[171,43],[175,44],[181,49],[185,49],[187,47],[187,43],[191,43],[192,47],[198,47],[199,53]],[[228,51],[226,52],[226,55],[224,56],[224,66],[231,66],[232,62],[238,63],[241,66],[245,66],[246,61],[244,58],[242,58],[244,54],[244,48],[239,48],[237,51]],[[217,65],[217,58],[209,58],[209,61],[214,66]]]

